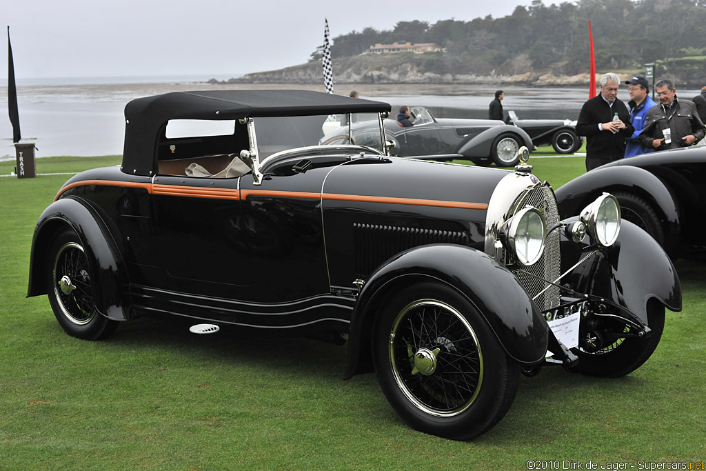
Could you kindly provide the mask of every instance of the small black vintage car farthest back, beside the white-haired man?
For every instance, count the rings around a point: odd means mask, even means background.
[[[576,121],[570,119],[519,119],[514,111],[510,111],[508,123],[527,131],[535,147],[551,145],[559,154],[573,154],[583,142],[576,135]]]

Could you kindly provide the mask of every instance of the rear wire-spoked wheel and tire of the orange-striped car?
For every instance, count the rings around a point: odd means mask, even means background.
[[[49,244],[45,270],[49,304],[68,335],[99,340],[115,330],[117,321],[102,316],[95,307],[93,274],[83,245],[71,229],[61,232]]]

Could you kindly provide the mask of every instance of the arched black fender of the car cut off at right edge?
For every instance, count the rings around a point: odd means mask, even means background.
[[[618,201],[625,192],[650,202],[662,222],[665,249],[669,252],[676,246],[680,216],[674,197],[659,178],[639,167],[599,167],[569,181],[554,192],[559,216],[577,215],[604,191],[617,193]]]

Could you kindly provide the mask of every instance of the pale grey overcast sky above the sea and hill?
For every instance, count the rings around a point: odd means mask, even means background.
[[[302,64],[331,37],[400,20],[510,15],[531,0],[8,0],[17,78],[217,76]],[[551,1],[544,1],[549,5]],[[409,37],[414,42],[414,37]],[[3,47],[4,64],[7,48]],[[0,79],[7,67],[0,67]]]

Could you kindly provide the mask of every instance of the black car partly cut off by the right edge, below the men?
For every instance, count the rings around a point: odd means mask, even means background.
[[[663,150],[602,165],[562,186],[556,196],[568,215],[610,191],[626,220],[678,258],[706,247],[705,170],[706,147]]]

